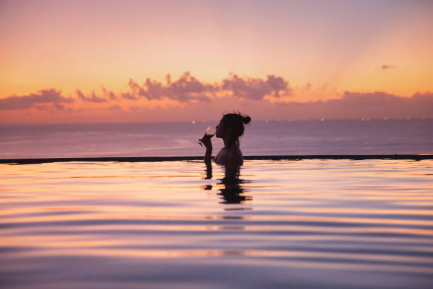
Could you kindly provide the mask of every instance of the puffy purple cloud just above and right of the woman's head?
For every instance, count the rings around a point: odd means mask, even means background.
[[[231,78],[223,79],[221,89],[229,91],[234,96],[239,98],[252,98],[260,100],[265,96],[273,96],[278,98],[282,94],[289,96],[291,88],[289,82],[282,77],[268,75],[267,79],[258,78],[242,78],[233,74]]]

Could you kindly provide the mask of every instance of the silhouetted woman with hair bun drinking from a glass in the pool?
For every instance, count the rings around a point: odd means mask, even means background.
[[[241,113],[227,113],[217,125],[216,137],[224,141],[224,147],[215,157],[215,163],[226,167],[236,167],[243,164],[241,149],[239,149],[239,137],[243,135],[243,124],[250,123],[251,118]],[[204,162],[207,165],[211,163],[212,157],[212,135],[204,135],[200,142],[206,147]]]

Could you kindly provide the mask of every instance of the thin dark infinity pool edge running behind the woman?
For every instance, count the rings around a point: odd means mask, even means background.
[[[203,157],[55,157],[40,159],[0,159],[0,164],[44,164],[52,162],[176,162],[200,161]],[[275,155],[244,156],[246,160],[301,160],[301,159],[433,159],[433,154],[322,154],[322,155]]]

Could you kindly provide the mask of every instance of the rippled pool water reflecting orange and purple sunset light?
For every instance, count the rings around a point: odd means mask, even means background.
[[[0,164],[2,288],[432,288],[432,168]]]

